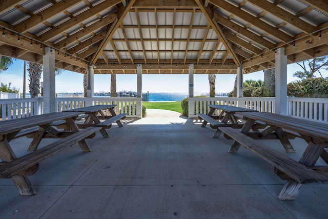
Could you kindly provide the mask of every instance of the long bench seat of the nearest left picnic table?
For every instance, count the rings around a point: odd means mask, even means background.
[[[60,140],[43,148],[18,157],[15,160],[4,162],[0,166],[0,178],[10,178],[14,175],[31,175],[37,170],[35,165],[38,165],[39,162],[45,160],[60,150],[63,150],[64,148],[74,145],[100,129],[100,127],[89,127],[80,130],[79,132],[73,133],[65,138],[60,138]]]

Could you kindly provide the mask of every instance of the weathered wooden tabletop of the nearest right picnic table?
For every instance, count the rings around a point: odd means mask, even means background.
[[[328,126],[323,123],[270,112],[237,112],[237,114],[328,142]]]

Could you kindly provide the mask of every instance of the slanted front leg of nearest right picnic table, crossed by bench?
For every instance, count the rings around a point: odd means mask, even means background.
[[[316,145],[310,142],[308,147],[306,147],[299,163],[305,166],[313,166],[317,163],[319,156],[324,151],[325,145]],[[294,181],[288,180],[282,190],[278,195],[279,200],[294,200],[298,194],[302,184]]]

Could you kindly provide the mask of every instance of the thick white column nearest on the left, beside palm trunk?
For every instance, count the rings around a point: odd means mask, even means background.
[[[56,111],[55,50],[45,47],[43,56],[44,113]]]

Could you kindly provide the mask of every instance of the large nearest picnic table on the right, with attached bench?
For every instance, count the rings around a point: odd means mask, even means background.
[[[275,173],[283,180],[287,180],[278,195],[279,200],[294,200],[302,184],[328,183],[328,166],[316,166],[319,157],[328,164],[328,152],[325,150],[328,147],[328,126],[326,124],[269,112],[237,113],[245,120],[242,129],[219,127],[221,131],[235,140],[229,152],[237,152],[242,145],[272,164],[275,167]],[[285,132],[298,133],[308,143],[300,160],[298,162],[292,160],[248,136],[255,121],[262,121],[268,125],[260,135],[276,132],[287,152],[294,152],[294,149]]]

